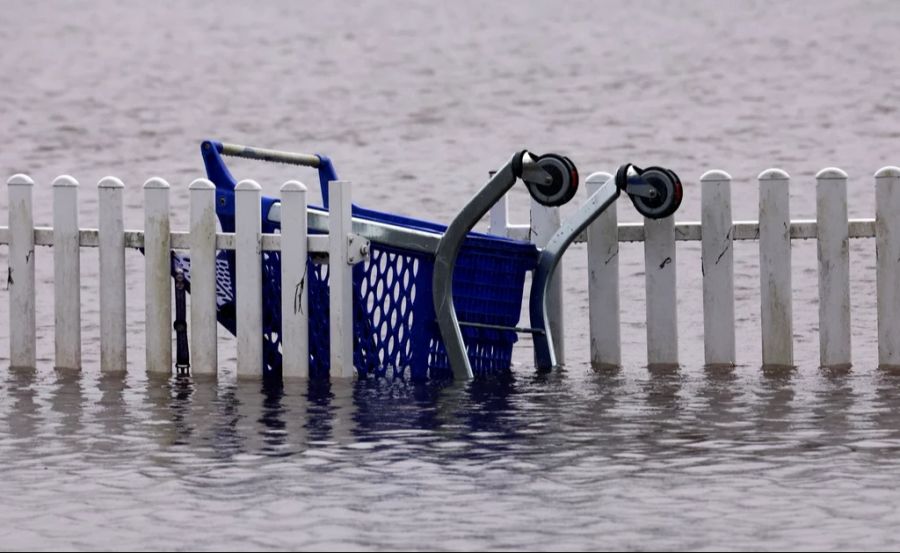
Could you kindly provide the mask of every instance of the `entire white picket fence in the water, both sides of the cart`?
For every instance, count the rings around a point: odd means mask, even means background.
[[[885,167],[874,177],[874,219],[847,216],[847,175],[823,169],[816,175],[817,220],[790,219],[790,177],[769,169],[758,177],[759,220],[733,221],[731,177],[709,171],[700,178],[700,222],[676,224],[672,218],[619,224],[615,206],[603,213],[581,238],[587,242],[590,298],[591,362],[621,364],[619,320],[620,242],[643,242],[646,265],[647,362],[678,364],[676,242],[702,243],[705,360],[733,365],[736,360],[734,310],[735,240],[757,240],[760,251],[762,358],[765,365],[793,365],[791,240],[817,239],[819,340],[822,366],[846,366],[850,357],[849,240],[875,238],[877,251],[878,359],[900,366],[900,168]],[[353,376],[352,264],[365,262],[368,244],[351,240],[350,184],[332,182],[329,234],[307,234],[306,188],[289,181],[281,187],[282,235],[260,232],[260,187],[250,180],[236,189],[236,232],[217,233],[215,189],[198,179],[190,186],[188,232],[173,232],[169,223],[169,185],[153,178],[144,184],[144,231],[123,227],[123,184],[107,177],[98,184],[99,229],[78,226],[78,183],[69,176],[53,182],[53,228],[35,228],[34,182],[15,175],[9,185],[9,226],[0,227],[0,244],[9,245],[10,364],[36,364],[35,246],[53,246],[56,366],[81,366],[80,249],[100,250],[101,370],[126,367],[126,248],[145,255],[146,367],[172,370],[172,279],[170,253],[190,250],[192,289],[190,344],[192,370],[215,373],[218,367],[216,323],[216,251],[235,250],[237,257],[237,370],[259,377],[262,357],[263,251],[281,251],[282,347],[285,377],[306,377],[309,367],[308,299],[302,276],[308,254],[328,256],[331,375]],[[588,193],[595,190],[589,189]],[[542,246],[559,226],[556,210],[532,208],[529,225],[508,221],[505,201],[490,215],[493,234],[533,240]],[[282,238],[284,236],[284,238]],[[283,240],[291,247],[281,249]],[[562,298],[557,278],[550,313],[562,336]],[[336,288],[337,287],[337,288]],[[339,289],[341,293],[335,293]],[[561,347],[558,347],[562,359]]]

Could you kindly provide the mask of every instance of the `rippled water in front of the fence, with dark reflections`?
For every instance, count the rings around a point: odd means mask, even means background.
[[[897,545],[895,512],[879,507],[897,499],[886,480],[900,473],[897,372],[570,369],[273,387],[11,371],[2,398],[0,522],[34,544],[71,544],[85,527],[97,529],[85,547],[124,529],[163,546],[164,522],[200,548],[263,531],[269,546],[303,548],[415,547],[444,532],[460,547],[526,536],[539,548],[691,547],[691,535],[812,547],[829,526]],[[90,507],[75,514],[72,501]],[[197,512],[208,525],[189,523]],[[107,520],[119,522],[103,530]]]

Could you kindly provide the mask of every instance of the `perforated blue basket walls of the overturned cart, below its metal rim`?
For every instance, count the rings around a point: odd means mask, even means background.
[[[219,252],[217,280],[219,321],[236,331],[233,255]],[[521,312],[521,290],[528,258],[465,252],[454,278],[460,320],[515,325]],[[373,244],[371,261],[357,265],[354,282],[354,365],[361,378],[392,376],[422,381],[452,377],[431,302],[433,260],[430,256]],[[189,258],[181,256],[190,282]],[[503,259],[503,263],[497,262]],[[485,271],[496,263],[493,272]],[[174,267],[173,267],[174,269]],[[281,368],[280,256],[263,260],[265,305],[263,332],[265,374]],[[493,277],[493,278],[486,278]],[[329,364],[328,266],[308,261],[310,376],[327,378]],[[473,369],[478,375],[509,369],[517,340],[512,331],[463,328]]]

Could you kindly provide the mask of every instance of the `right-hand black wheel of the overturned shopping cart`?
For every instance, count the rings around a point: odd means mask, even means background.
[[[632,180],[635,174],[639,184]],[[628,194],[638,213],[649,219],[665,219],[675,213],[684,195],[678,175],[662,167],[623,165],[616,174],[616,184]]]

